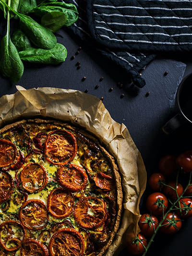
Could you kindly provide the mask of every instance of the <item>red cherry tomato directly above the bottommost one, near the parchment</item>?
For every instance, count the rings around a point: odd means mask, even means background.
[[[152,236],[158,226],[158,219],[147,213],[141,216],[138,224],[142,234]]]

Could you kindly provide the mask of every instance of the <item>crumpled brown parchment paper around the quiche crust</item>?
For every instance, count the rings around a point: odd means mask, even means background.
[[[142,157],[128,129],[115,122],[102,101],[76,90],[42,87],[17,92],[0,98],[0,127],[36,116],[51,117],[80,125],[96,135],[117,161],[123,187],[123,212],[119,231],[106,256],[117,255],[126,232],[139,232],[139,202],[146,185],[146,171]],[[116,253],[115,253],[116,252]]]

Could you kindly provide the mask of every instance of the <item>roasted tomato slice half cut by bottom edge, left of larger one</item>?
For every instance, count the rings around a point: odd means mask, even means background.
[[[21,248],[21,256],[48,256],[48,248],[35,239],[27,239]]]

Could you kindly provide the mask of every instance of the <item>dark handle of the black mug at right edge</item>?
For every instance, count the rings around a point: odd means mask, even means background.
[[[162,127],[162,131],[165,134],[172,134],[183,124],[184,124],[184,120],[182,116],[180,114],[176,114],[168,122],[166,122],[166,124]]]

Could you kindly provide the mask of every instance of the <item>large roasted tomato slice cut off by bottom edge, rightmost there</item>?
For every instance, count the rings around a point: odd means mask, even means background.
[[[54,233],[49,242],[51,256],[83,256],[84,240],[74,229],[61,229]]]

